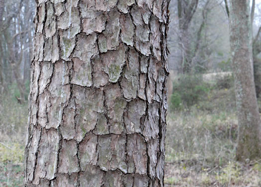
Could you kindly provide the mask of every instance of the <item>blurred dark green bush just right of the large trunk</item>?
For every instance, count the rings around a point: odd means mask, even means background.
[[[203,82],[202,76],[181,76],[173,84],[173,94],[171,98],[171,109],[180,109],[182,104],[190,107],[204,98],[209,92],[210,86]]]

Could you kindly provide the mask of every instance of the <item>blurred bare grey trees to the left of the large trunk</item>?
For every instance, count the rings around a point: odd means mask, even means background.
[[[34,6],[33,0],[0,0],[0,91],[16,83],[21,103],[29,80]]]

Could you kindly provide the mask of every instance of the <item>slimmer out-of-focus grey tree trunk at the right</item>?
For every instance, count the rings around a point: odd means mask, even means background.
[[[252,54],[249,0],[231,0],[230,43],[236,85],[239,137],[236,158],[261,158],[261,120],[257,104]]]

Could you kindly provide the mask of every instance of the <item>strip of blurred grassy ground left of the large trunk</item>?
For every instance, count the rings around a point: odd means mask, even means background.
[[[2,97],[0,103],[0,187],[23,186],[27,104]]]

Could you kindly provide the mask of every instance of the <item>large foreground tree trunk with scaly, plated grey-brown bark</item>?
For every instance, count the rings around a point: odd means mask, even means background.
[[[163,187],[169,0],[38,0],[26,187]]]

